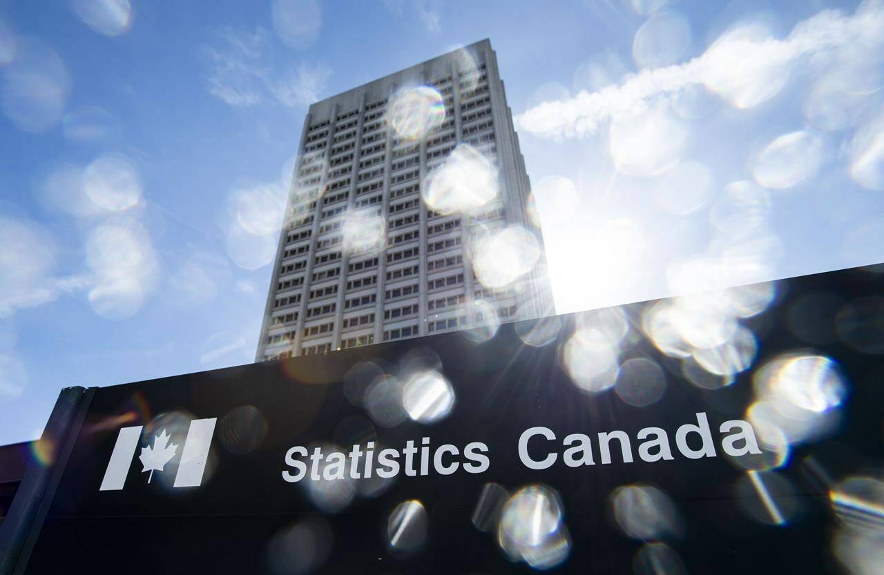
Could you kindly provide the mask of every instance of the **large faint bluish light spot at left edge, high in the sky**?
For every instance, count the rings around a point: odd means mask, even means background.
[[[71,76],[55,50],[19,38],[15,58],[0,68],[0,108],[26,132],[45,132],[65,113]]]

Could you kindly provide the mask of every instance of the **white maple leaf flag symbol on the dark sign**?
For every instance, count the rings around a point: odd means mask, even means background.
[[[209,458],[216,420],[213,417],[190,422],[173,487],[193,488],[202,483],[202,472],[206,467],[206,459]],[[99,491],[118,491],[123,488],[141,439],[142,428],[143,426],[138,425],[119,430]],[[147,447],[141,448],[138,458],[141,461],[141,473],[149,472],[148,483],[153,479],[155,471],[162,473],[164,466],[178,454],[178,443],[169,443],[169,439],[170,435],[163,429],[151,438]]]

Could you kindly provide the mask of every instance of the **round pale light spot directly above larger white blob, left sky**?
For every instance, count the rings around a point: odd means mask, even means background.
[[[141,200],[141,174],[122,154],[98,156],[83,172],[83,186],[96,206],[111,211],[132,208]]]

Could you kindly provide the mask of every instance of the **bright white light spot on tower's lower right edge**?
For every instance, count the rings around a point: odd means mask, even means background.
[[[472,248],[476,279],[490,288],[512,284],[529,273],[540,258],[537,238],[517,225],[478,238]]]

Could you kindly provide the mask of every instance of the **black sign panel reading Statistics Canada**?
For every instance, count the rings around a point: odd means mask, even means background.
[[[850,269],[95,390],[19,568],[873,572],[882,287]]]

